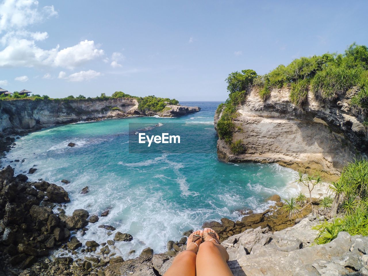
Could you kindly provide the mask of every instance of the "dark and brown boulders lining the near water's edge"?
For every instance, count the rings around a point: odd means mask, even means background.
[[[33,172],[31,169],[29,173]],[[279,196],[267,200],[275,204],[263,213],[248,210],[241,221],[223,218],[221,223],[207,222],[203,227],[212,227],[223,241],[259,227],[278,231],[311,212],[309,205],[290,220],[280,208],[283,203]],[[134,237],[101,224],[99,227],[106,229],[106,242],[98,244],[91,240],[82,244],[75,234],[81,231],[83,235],[89,224],[98,223],[99,217],[89,216],[83,209],[74,210],[72,216],[65,215],[63,207],[69,201],[68,193],[56,184],[30,182],[24,174],[14,176],[11,166],[0,171],[0,259],[4,263],[0,275],[120,275],[116,269],[128,271],[137,265],[142,272],[134,275],[163,275],[170,263],[167,261],[185,249],[187,236],[192,232],[183,233],[180,241],[169,241],[165,253],[153,254],[151,248],[146,248],[138,258],[124,261],[114,252],[114,244],[129,242]],[[58,257],[50,256],[56,250]]]

